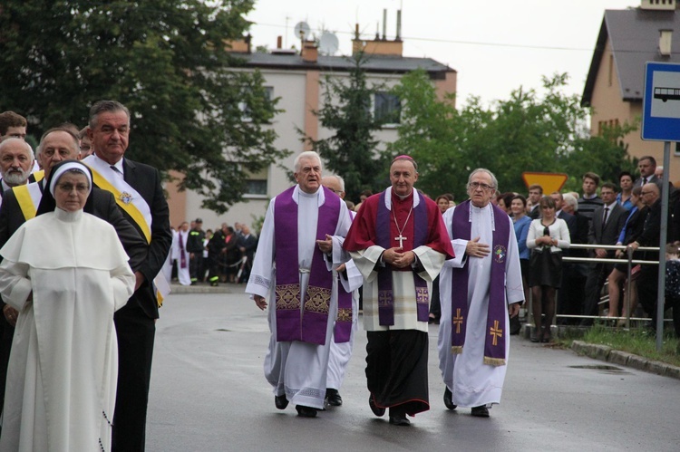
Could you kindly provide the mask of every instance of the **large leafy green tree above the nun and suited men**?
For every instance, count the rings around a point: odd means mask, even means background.
[[[127,154],[186,178],[181,188],[224,213],[250,172],[287,155],[267,124],[277,113],[258,72],[225,42],[248,28],[253,0],[5,0],[0,6],[0,111],[40,136],[65,121],[83,127],[94,101],[131,111]]]

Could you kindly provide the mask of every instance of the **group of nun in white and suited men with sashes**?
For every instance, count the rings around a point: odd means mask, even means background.
[[[0,113],[0,450],[141,451],[170,210],[125,157],[131,113],[96,101],[37,148]]]

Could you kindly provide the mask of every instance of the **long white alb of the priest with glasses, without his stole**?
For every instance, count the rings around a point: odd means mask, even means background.
[[[451,235],[451,222],[456,207],[447,210],[444,217],[446,230]],[[508,254],[505,264],[505,324],[502,327],[505,336],[505,357],[510,353],[510,322],[508,321],[508,304],[524,300],[522,288],[520,255],[517,247],[510,216],[494,217],[491,205],[474,207],[471,210],[471,238],[480,237],[480,243],[493,243],[493,222],[509,222]],[[446,261],[440,274],[440,297],[442,300],[442,322],[439,326],[439,368],[446,386],[453,394],[453,404],[460,407],[478,407],[491,403],[500,403],[500,395],[505,380],[505,366],[485,365],[484,341],[486,340],[486,322],[489,309],[489,290],[491,284],[492,253],[484,258],[465,255],[467,240],[452,240],[456,257]],[[465,345],[461,354],[452,354],[452,268],[461,268],[465,260],[470,259],[468,278],[468,321],[465,330]],[[453,290],[456,290],[454,287]],[[507,361],[506,361],[507,362]]]

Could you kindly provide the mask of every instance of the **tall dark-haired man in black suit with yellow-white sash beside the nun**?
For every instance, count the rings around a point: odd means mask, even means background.
[[[130,135],[130,111],[117,101],[97,101],[90,109],[88,136],[94,154],[83,159],[95,185],[116,197],[131,225],[148,244],[146,260],[132,270],[135,293],[115,313],[118,334],[118,392],[112,450],[144,450],[158,300],[153,281],[170,251],[170,209],[158,169],[124,158]]]

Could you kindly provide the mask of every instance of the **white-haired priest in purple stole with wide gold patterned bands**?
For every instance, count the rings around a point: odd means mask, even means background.
[[[264,368],[275,406],[292,402],[299,416],[314,418],[324,408],[335,268],[349,259],[332,237],[344,237],[351,219],[345,202],[321,186],[316,152],[298,155],[294,171],[297,185],[269,203],[246,293],[258,308],[269,307]]]

